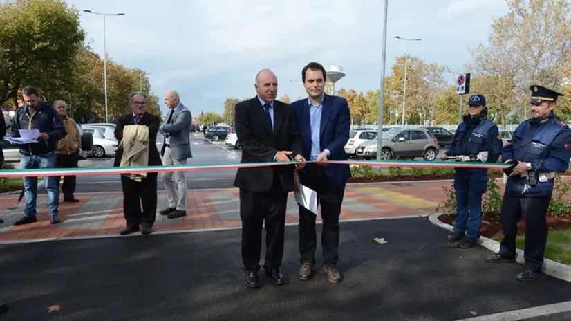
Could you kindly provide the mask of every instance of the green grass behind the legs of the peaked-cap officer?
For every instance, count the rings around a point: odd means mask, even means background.
[[[502,237],[496,236],[492,239],[502,241]],[[516,247],[521,250],[525,248],[525,235],[516,238]],[[571,264],[571,230],[551,230],[547,236],[544,257],[563,264]]]

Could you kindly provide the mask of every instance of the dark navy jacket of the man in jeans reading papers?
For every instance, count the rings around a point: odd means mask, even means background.
[[[46,133],[49,136],[48,140],[19,145],[20,154],[26,156],[55,152],[57,141],[67,135],[62,118],[59,118],[52,104],[43,100],[36,107],[35,111],[30,111],[30,107],[27,104],[16,109],[12,118],[12,134],[10,136],[20,137],[18,129],[37,129],[40,133]]]

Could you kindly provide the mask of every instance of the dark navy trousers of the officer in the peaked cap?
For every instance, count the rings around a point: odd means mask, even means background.
[[[525,269],[541,272],[543,253],[547,243],[547,221],[550,197],[521,197],[504,194],[501,208],[504,238],[500,244],[501,255],[516,255],[517,223],[525,218]]]

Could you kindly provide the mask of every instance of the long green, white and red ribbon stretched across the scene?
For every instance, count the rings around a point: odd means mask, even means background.
[[[293,165],[292,162],[268,163],[235,163],[223,165],[163,165],[163,166],[135,166],[135,167],[81,167],[81,168],[53,168],[53,169],[5,169],[0,170],[1,177],[38,177],[38,176],[87,176],[109,174],[137,174],[137,173],[163,173],[163,172],[189,172],[197,170],[237,169],[249,167],[270,167]],[[500,163],[469,163],[469,162],[443,162],[443,161],[402,161],[402,160],[327,160],[325,162],[306,161],[306,163],[362,165],[372,167],[437,167],[437,168],[481,168],[505,169],[511,164]]]

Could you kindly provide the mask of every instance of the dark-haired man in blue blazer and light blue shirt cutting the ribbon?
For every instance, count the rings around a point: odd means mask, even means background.
[[[317,163],[307,163],[296,175],[301,183],[317,192],[321,205],[323,231],[321,246],[324,253],[324,272],[332,283],[339,283],[343,275],[335,267],[339,261],[339,215],[345,185],[351,176],[349,165],[324,164],[326,160],[347,160],[344,146],[349,140],[350,113],[347,100],[324,93],[326,72],[317,62],[301,71],[308,98],[290,104],[303,142],[303,157]],[[308,280],[314,275],[317,215],[299,205],[299,278]]]

